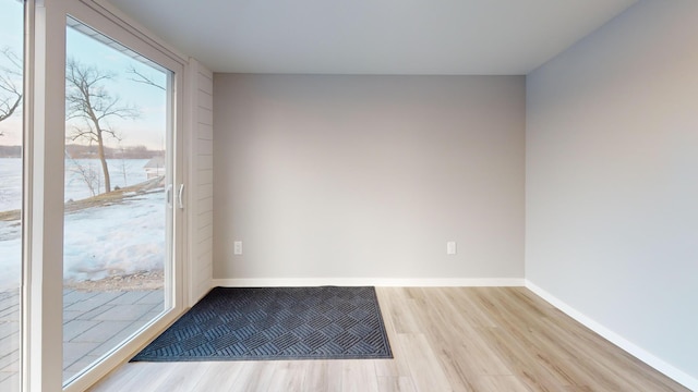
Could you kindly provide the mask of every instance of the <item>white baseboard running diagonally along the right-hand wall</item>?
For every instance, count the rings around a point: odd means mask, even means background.
[[[600,334],[601,336],[603,336],[604,339],[606,339],[611,343],[617,345],[618,347],[623,348],[624,351],[626,351],[630,355],[635,356],[636,358],[640,359],[641,362],[646,363],[647,365],[653,367],[658,371],[662,372],[663,375],[665,375],[666,377],[673,379],[674,381],[681,383],[682,385],[688,388],[689,390],[698,391],[698,380],[696,378],[694,378],[694,377],[691,377],[689,375],[686,375],[685,372],[683,372],[682,370],[676,369],[674,366],[667,364],[663,359],[660,359],[657,356],[652,355],[651,353],[649,353],[645,348],[638,346],[637,344],[635,344],[633,342],[629,342],[625,338],[623,338],[619,334],[613,332],[612,330],[607,329],[603,324],[594,321],[590,317],[587,317],[585,314],[578,311],[577,309],[575,309],[571,306],[567,305],[563,301],[558,299],[554,295],[547,293],[546,291],[544,291],[543,289],[537,286],[535,284],[531,283],[530,281],[526,280],[525,283],[526,283],[526,287],[528,290],[532,291],[533,293],[535,293],[541,298],[547,301],[551,305],[553,305],[557,309],[562,310],[567,316],[569,316],[569,317],[574,318],[575,320],[579,321],[585,327],[587,327],[590,330],[597,332],[598,334]]]

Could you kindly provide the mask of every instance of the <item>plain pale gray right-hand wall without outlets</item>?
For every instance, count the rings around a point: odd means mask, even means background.
[[[697,25],[641,1],[528,75],[526,149],[527,280],[693,388]]]

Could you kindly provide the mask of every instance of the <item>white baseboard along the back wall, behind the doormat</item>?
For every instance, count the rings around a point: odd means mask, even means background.
[[[214,279],[214,286],[224,287],[302,287],[302,286],[385,286],[385,287],[477,287],[477,286],[524,286],[518,278],[248,278]]]

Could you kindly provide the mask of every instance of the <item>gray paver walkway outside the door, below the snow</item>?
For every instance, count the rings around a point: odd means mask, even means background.
[[[63,379],[67,380],[164,310],[163,290],[63,291]],[[0,391],[20,370],[19,291],[0,292]]]

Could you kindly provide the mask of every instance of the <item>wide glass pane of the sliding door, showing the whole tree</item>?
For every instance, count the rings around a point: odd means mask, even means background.
[[[64,382],[171,304],[171,78],[68,20]]]

